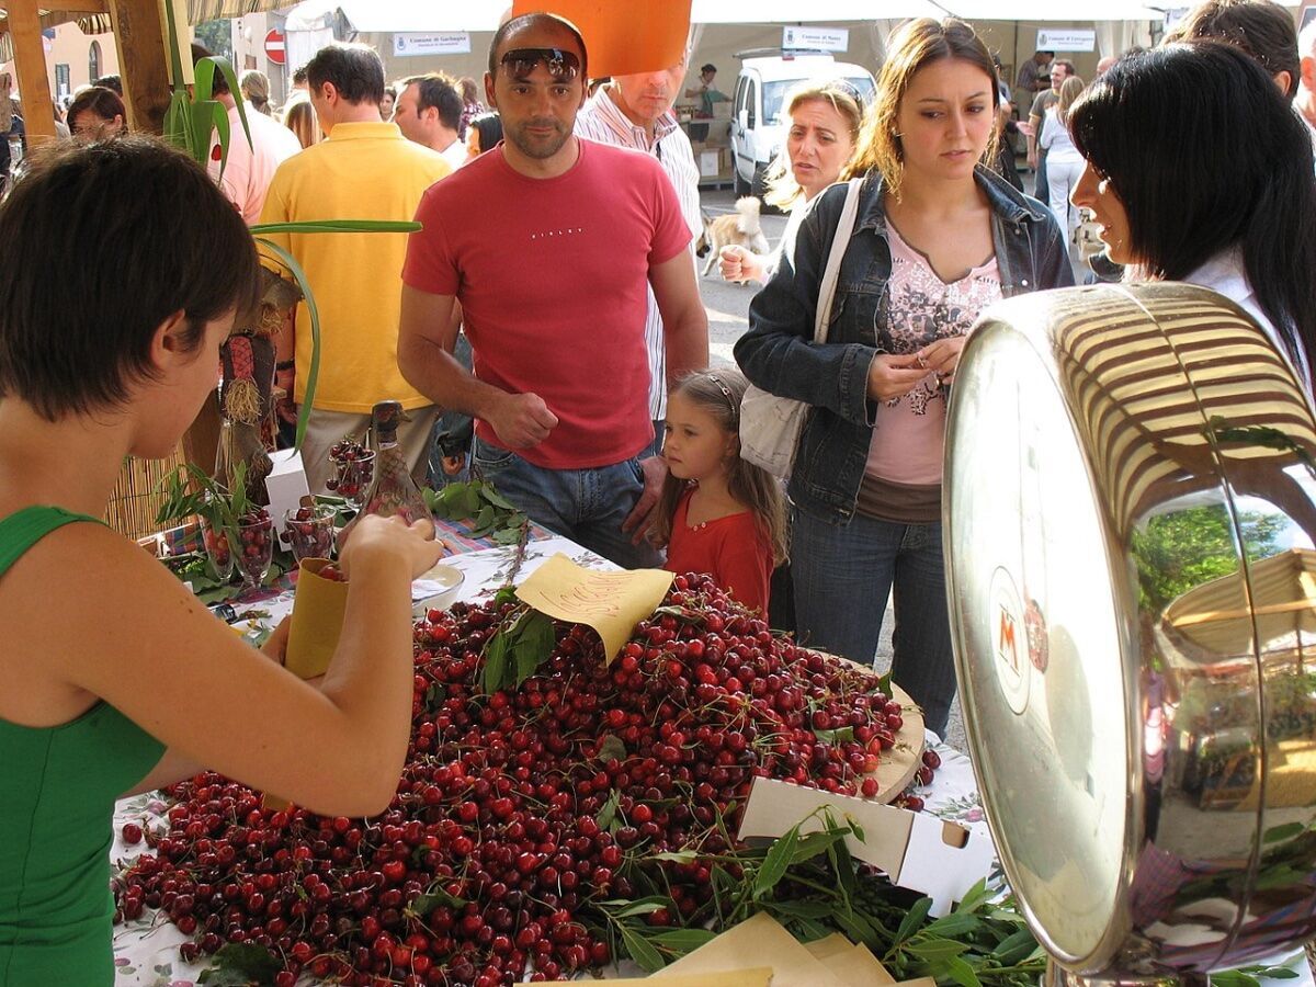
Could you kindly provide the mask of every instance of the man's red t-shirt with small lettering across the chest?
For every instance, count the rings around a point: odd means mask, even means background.
[[[570,171],[534,179],[495,149],[430,187],[416,220],[425,228],[411,237],[403,280],[462,303],[480,380],[533,391],[558,416],[519,455],[579,470],[649,443],[649,268],[690,242],[657,161],[582,139]],[[475,433],[501,445],[483,421]]]

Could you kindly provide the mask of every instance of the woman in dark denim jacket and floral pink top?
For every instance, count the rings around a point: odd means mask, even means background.
[[[980,163],[998,99],[967,24],[900,28],[861,136],[855,172],[869,176],[828,341],[813,342],[813,313],[844,186],[819,196],[736,343],[753,383],[813,405],[788,486],[800,640],[871,662],[894,588],[892,678],[937,733],[955,694],[941,554],[948,388],[984,305],[1074,283],[1050,209]]]

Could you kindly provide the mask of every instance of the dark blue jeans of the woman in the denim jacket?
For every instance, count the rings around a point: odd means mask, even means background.
[[[891,678],[944,736],[955,697],[941,524],[855,515],[846,525],[796,511],[791,522],[796,637],[809,647],[871,665],[887,597],[895,591]]]

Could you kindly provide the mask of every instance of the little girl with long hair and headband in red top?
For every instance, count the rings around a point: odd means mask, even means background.
[[[772,567],[786,558],[786,511],[776,480],[740,457],[746,386],[736,370],[703,370],[667,397],[658,533],[667,570],[709,572],[766,620]]]

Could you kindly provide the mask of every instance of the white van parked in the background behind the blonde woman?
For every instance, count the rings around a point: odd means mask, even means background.
[[[863,66],[837,62],[825,51],[741,51],[732,104],[732,172],[736,195],[763,195],[763,174],[786,141],[786,93],[805,79],[845,79],[873,101],[876,83]]]

